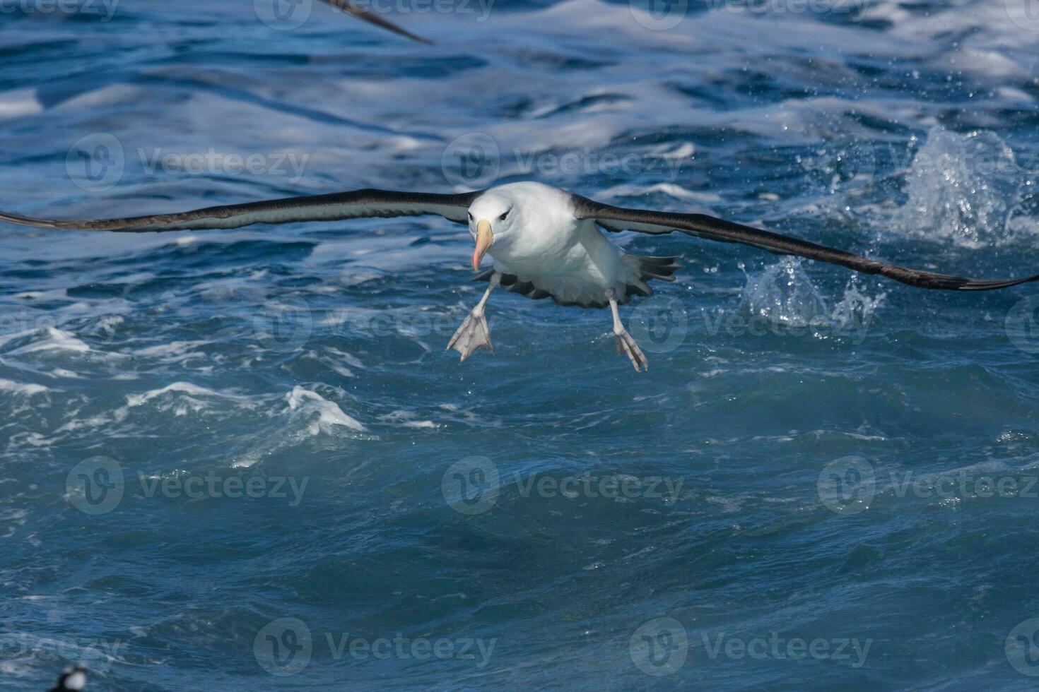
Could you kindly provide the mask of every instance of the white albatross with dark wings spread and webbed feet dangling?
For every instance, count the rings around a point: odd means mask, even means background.
[[[512,183],[462,194],[356,190],[97,221],[30,219],[0,213],[0,221],[63,230],[152,232],[424,215],[469,225],[476,244],[473,271],[479,271],[484,255],[494,260],[491,269],[477,276],[490,285],[448,343],[448,349],[461,354],[461,360],[480,347],[494,353],[484,306],[490,293],[500,285],[534,300],[552,298],[564,306],[609,307],[617,352],[627,355],[636,370],[648,369],[642,350],[621,324],[617,306],[628,303],[633,296],[651,295],[652,280],[674,281],[678,265],[675,257],[623,252],[607,240],[604,229],[651,234],[678,230],[712,241],[752,245],[776,254],[828,261],[918,288],[991,290],[1039,279],[1036,275],[986,281],[922,272],[703,214],[612,206],[540,183]]]

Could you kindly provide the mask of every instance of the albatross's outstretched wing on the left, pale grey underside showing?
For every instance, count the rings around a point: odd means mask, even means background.
[[[340,221],[372,217],[443,216],[449,221],[465,223],[469,205],[481,192],[458,195],[434,195],[388,190],[355,190],[330,195],[286,197],[247,204],[209,206],[179,214],[136,216],[125,219],[97,221],[57,221],[30,219],[0,213],[0,221],[36,228],[66,230],[112,230],[117,232],[153,232],[165,230],[202,230],[206,228],[239,228],[254,223],[292,223],[296,221]]]

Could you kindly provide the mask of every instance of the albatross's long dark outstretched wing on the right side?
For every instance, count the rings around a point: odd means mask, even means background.
[[[607,230],[635,230],[642,233],[670,233],[678,230],[690,236],[698,236],[723,243],[743,243],[752,245],[776,254],[790,254],[841,265],[863,274],[879,274],[901,281],[917,288],[934,288],[938,290],[991,290],[1007,288],[1039,280],[1039,274],[1023,279],[1007,279],[986,281],[967,279],[947,274],[922,272],[915,269],[897,267],[861,255],[835,250],[807,241],[800,241],[789,236],[772,233],[760,228],[744,226],[716,219],[705,214],[671,214],[667,212],[650,212],[646,210],[624,209],[603,204],[586,197],[575,195],[574,206],[579,219],[594,219]]]

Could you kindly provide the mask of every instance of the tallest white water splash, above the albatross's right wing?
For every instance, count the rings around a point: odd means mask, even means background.
[[[1008,220],[1024,175],[1013,150],[992,132],[959,135],[935,127],[913,157],[908,201],[895,216],[907,236],[951,240],[966,248],[1012,240]]]

